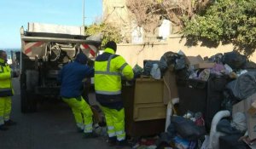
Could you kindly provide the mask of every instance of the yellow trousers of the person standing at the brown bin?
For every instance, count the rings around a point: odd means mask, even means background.
[[[117,140],[125,140],[125,110],[122,108],[117,111],[109,109],[108,107],[101,106],[102,111],[106,117],[108,125],[108,136],[117,136]]]

